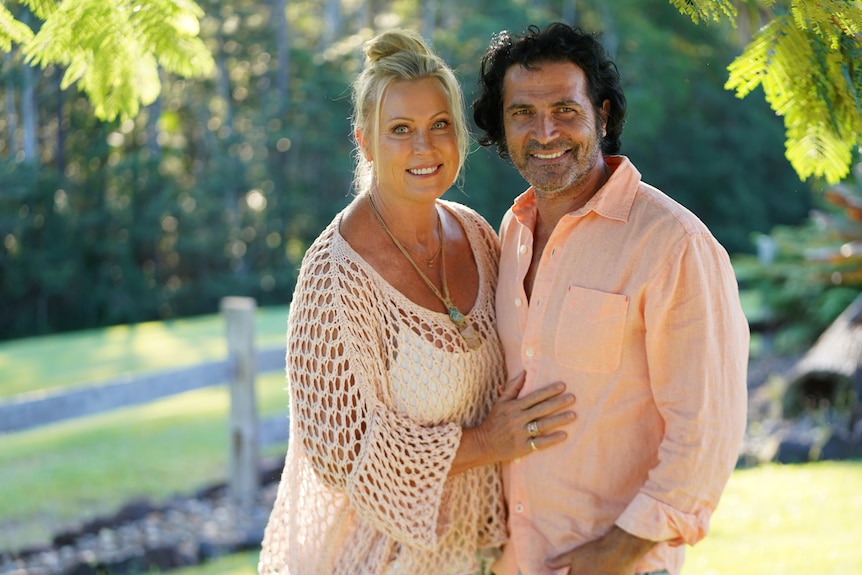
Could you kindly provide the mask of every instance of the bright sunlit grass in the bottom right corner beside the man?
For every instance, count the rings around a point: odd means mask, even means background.
[[[862,462],[734,472],[683,575],[862,573]]]

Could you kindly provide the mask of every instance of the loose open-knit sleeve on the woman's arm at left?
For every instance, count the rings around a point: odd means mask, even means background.
[[[288,322],[291,413],[319,480],[395,540],[433,547],[445,533],[456,423],[422,426],[387,408],[393,322],[372,280],[348,259],[311,253]]]

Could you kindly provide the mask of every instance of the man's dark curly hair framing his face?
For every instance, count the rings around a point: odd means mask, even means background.
[[[479,144],[497,146],[501,158],[509,157],[503,129],[503,78],[514,65],[532,69],[544,62],[572,62],[587,76],[590,101],[596,110],[608,100],[611,110],[602,153],[619,153],[620,136],[626,117],[626,98],[617,66],[595,36],[580,28],[555,22],[544,30],[530,26],[518,38],[506,31],[495,34],[482,57],[479,84],[482,93],[473,102],[473,119],[483,130]]]

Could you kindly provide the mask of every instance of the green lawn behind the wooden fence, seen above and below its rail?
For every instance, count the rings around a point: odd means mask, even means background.
[[[260,348],[283,345],[287,308],[258,310]],[[224,357],[220,316],[0,342],[0,397]],[[287,408],[284,373],[261,374],[262,415]],[[140,407],[0,434],[0,551],[44,544],[133,498],[160,502],[224,481],[229,392],[215,386]],[[284,445],[264,455],[284,453]]]

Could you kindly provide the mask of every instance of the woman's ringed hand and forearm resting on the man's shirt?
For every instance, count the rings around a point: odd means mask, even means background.
[[[523,385],[524,374],[506,382],[485,421],[464,430],[450,475],[565,441],[568,434],[560,428],[575,420],[575,413],[566,410],[574,405],[575,396],[563,393],[566,386],[558,382],[519,398]]]

